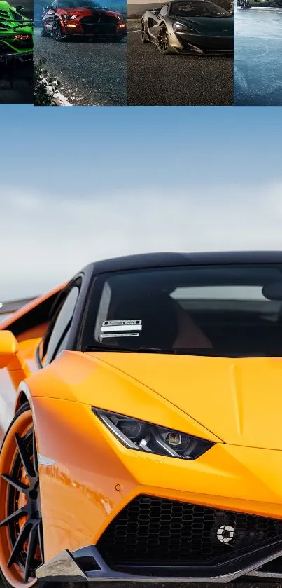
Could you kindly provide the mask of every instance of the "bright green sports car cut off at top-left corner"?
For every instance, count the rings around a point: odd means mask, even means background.
[[[32,59],[33,22],[24,16],[22,6],[0,0],[0,62]]]

